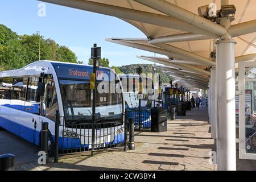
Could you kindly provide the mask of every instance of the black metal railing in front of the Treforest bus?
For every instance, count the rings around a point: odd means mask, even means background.
[[[55,162],[58,162],[59,155],[86,151],[91,151],[93,155],[93,151],[117,147],[124,147],[127,151],[127,127],[127,110],[124,119],[118,121],[65,123],[64,125],[60,124],[59,111],[56,111]]]

